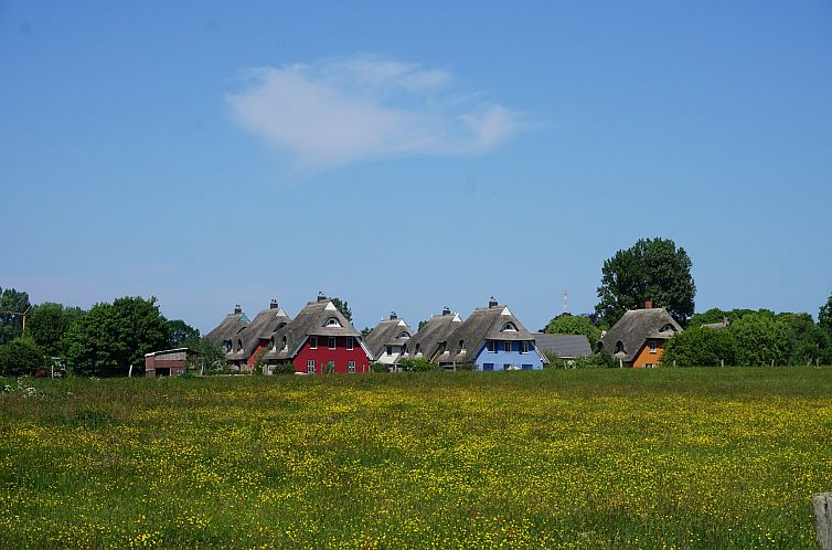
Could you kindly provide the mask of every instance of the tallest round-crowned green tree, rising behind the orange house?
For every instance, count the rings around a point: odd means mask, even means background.
[[[650,300],[686,325],[696,296],[692,265],[685,250],[669,239],[641,239],[618,251],[601,268],[600,302],[595,306],[601,324],[611,327],[625,311]]]

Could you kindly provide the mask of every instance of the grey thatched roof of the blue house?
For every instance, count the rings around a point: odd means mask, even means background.
[[[511,322],[516,330],[503,330]],[[456,327],[446,338],[439,339],[429,351],[429,358],[439,363],[462,362],[471,360],[486,345],[486,340],[531,341],[534,336],[520,322],[520,319],[504,304],[492,307],[481,307],[473,310],[470,317]],[[465,345],[465,350],[460,347]],[[444,346],[445,350],[440,349]],[[540,352],[540,350],[538,350]],[[542,359],[545,358],[541,355]]]

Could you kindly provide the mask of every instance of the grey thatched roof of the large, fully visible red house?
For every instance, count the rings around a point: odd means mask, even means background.
[[[326,327],[324,325],[330,318],[338,320],[341,326]],[[275,337],[275,349],[267,351],[264,359],[290,361],[310,336],[352,336],[367,351],[362,341],[361,332],[355,330],[355,327],[346,320],[346,317],[338,310],[331,300],[310,302],[295,319],[276,330],[269,338],[271,336]],[[286,337],[286,347],[282,346],[284,337]]]

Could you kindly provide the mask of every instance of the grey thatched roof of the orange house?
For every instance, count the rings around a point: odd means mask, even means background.
[[[671,330],[661,331],[666,325]],[[681,330],[679,322],[663,307],[631,309],[601,337],[601,343],[607,353],[632,361],[648,338],[668,339]],[[619,341],[623,345],[623,353],[616,353]]]

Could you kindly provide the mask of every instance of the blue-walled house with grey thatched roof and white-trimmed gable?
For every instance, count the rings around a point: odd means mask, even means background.
[[[473,362],[477,370],[541,370],[547,362],[534,336],[494,298],[437,342],[429,359],[445,369]]]

